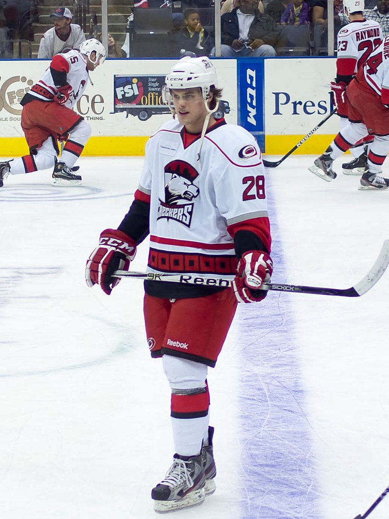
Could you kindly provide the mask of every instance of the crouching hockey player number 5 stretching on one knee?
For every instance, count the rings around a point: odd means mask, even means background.
[[[83,94],[89,72],[105,59],[104,46],[95,38],[87,39],[80,50],[57,54],[42,78],[27,92],[23,106],[21,127],[30,154],[0,162],[0,187],[11,175],[31,173],[52,168],[53,184],[78,185],[81,176],[72,171],[83,152],[91,129],[72,107]],[[58,140],[66,141],[59,155]]]

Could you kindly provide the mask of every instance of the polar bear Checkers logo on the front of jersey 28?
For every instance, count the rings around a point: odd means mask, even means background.
[[[159,199],[158,216],[175,220],[190,227],[193,214],[193,200],[199,189],[193,183],[198,171],[184,160],[172,160],[165,166],[165,200]]]

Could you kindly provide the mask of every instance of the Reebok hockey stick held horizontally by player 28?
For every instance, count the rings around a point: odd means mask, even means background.
[[[365,294],[377,283],[389,264],[389,240],[385,240],[381,252],[375,260],[366,276],[349,289],[327,289],[321,286],[285,285],[279,283],[263,283],[261,290],[275,290],[279,292],[292,292],[300,294],[337,295],[342,297],[359,297]],[[131,272],[127,270],[115,270],[116,278],[138,278],[148,281],[168,281],[169,283],[189,283],[208,286],[231,286],[230,279],[211,278],[190,274],[156,274],[155,272]]]

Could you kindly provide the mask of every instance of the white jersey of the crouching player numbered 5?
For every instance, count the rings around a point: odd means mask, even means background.
[[[84,54],[78,50],[70,50],[69,52],[60,54],[60,56],[69,64],[69,72],[66,75],[66,80],[73,90],[65,106],[72,108],[77,100],[82,96],[88,84],[89,75],[87,62]],[[48,67],[42,78],[39,79],[39,81],[31,88],[29,94],[41,101],[51,101],[56,93],[57,87],[55,86],[51,76],[50,67]]]

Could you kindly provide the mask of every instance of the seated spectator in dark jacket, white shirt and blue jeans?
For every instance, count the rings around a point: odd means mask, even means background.
[[[237,7],[221,16],[223,57],[276,56],[281,29],[258,10],[258,0],[238,0]],[[214,49],[211,50],[214,55]]]

